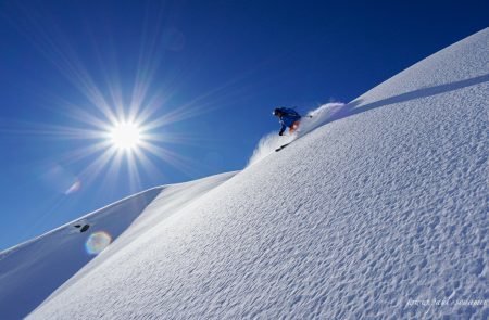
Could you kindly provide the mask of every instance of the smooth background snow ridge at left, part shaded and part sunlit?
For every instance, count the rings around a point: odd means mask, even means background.
[[[141,192],[0,253],[0,319],[27,316],[80,268],[89,270],[95,254],[106,247],[100,257],[109,258],[117,246],[234,175]]]

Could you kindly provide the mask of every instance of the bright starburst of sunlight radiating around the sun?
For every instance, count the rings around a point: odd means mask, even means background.
[[[66,116],[67,126],[38,124],[33,129],[33,125],[27,124],[25,131],[70,140],[70,151],[55,159],[65,166],[79,167],[75,184],[67,193],[92,183],[101,175],[103,183],[110,185],[126,172],[131,190],[140,190],[141,172],[158,179],[165,174],[166,167],[159,162],[186,176],[200,174],[201,161],[184,156],[180,148],[178,152],[172,148],[195,144],[201,137],[188,133],[185,126],[177,124],[241,98],[241,89],[234,91],[234,88],[239,87],[237,81],[247,74],[199,95],[180,97],[179,86],[184,82],[174,80],[191,75],[191,68],[163,68],[162,56],[168,49],[174,51],[183,46],[183,35],[176,29],[162,28],[162,21],[155,21],[154,25],[145,22],[146,27],[141,30],[145,41],[137,50],[139,55],[127,59],[127,67],[115,63],[118,50],[109,44],[102,46],[108,50],[106,54],[99,52],[102,47],[93,47],[100,64],[89,67],[91,64],[77,55],[76,46],[72,47],[70,38],[64,37],[58,25],[43,25],[34,13],[26,14],[32,16],[26,26],[36,35],[33,43],[47,54],[78,94],[49,95],[52,99],[49,107],[57,115]],[[168,35],[179,40],[167,43]],[[125,52],[121,51],[121,54]],[[91,63],[91,60],[87,61]]]

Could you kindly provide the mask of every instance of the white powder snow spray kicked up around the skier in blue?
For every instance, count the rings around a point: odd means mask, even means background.
[[[275,152],[280,145],[292,142],[299,137],[302,137],[312,130],[321,127],[330,120],[339,111],[344,107],[344,103],[334,102],[326,103],[316,110],[310,111],[305,116],[302,117],[301,124],[299,126],[298,132],[289,135],[288,131],[286,136],[278,136],[277,132],[271,132],[260,139],[259,144],[253,151],[253,154],[248,162],[248,166],[258,163],[262,158],[266,157],[271,153]]]

